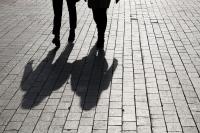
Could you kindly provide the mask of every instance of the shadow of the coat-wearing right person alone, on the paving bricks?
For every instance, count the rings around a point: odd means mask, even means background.
[[[113,60],[108,68],[103,50],[93,47],[88,56],[73,63],[71,88],[80,97],[83,110],[90,110],[98,104],[101,93],[108,89],[118,61]],[[82,67],[82,69],[80,69]]]

